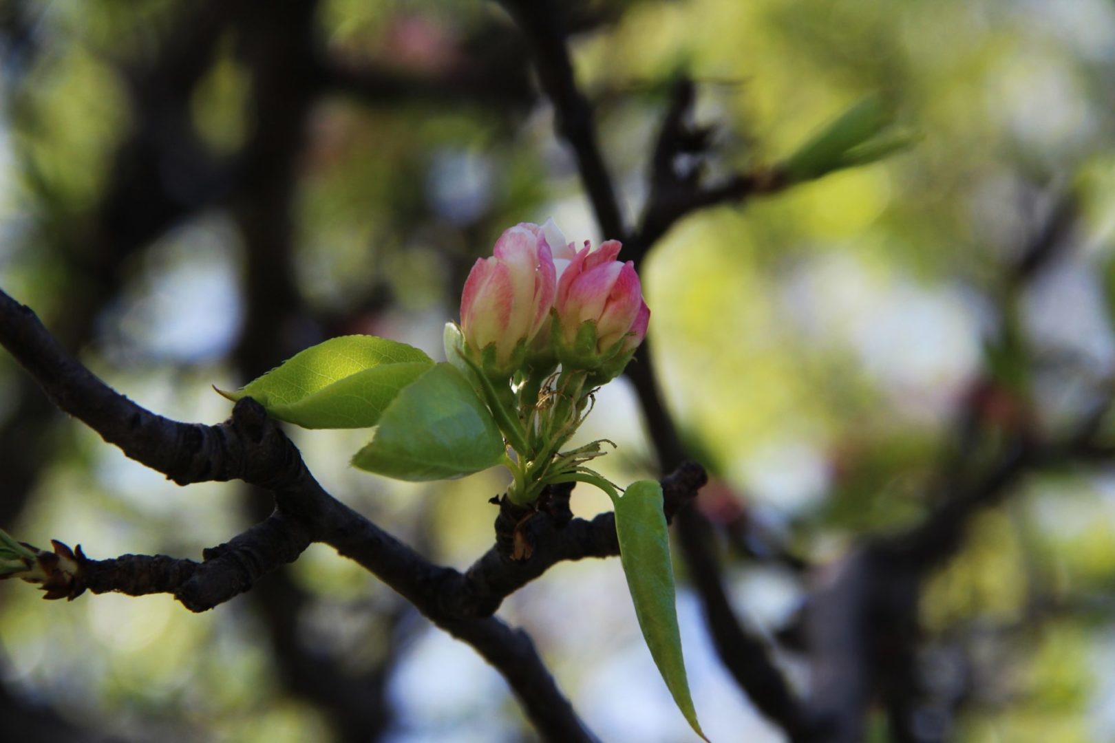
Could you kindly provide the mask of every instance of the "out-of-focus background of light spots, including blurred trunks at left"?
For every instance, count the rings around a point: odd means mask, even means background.
[[[1115,6],[570,7],[629,219],[681,72],[716,127],[700,163],[714,180],[776,164],[873,92],[920,133],[885,162],[696,213],[644,264],[653,361],[714,475],[699,507],[733,606],[806,692],[793,636],[808,566],[917,524],[951,458],[1059,436],[1109,391]],[[222,420],[211,385],[330,335],[440,354],[468,268],[514,223],[601,237],[530,45],[493,2],[0,0],[0,286],[181,420]],[[1057,255],[1020,277],[1050,229]],[[613,479],[658,473],[626,380],[586,429],[620,444]],[[347,466],[367,432],[292,436],[328,490],[433,559],[464,568],[491,545],[504,473],[392,482]],[[0,527],[19,538],[196,557],[266,500],[167,482],[0,353]],[[609,505],[579,489],[573,507]],[[706,731],[783,740],[678,573]],[[1036,471],[982,511],[922,592],[924,740],[1113,740],[1113,588],[1103,461]],[[690,740],[618,560],[560,565],[501,614],[603,740]],[[317,546],[204,615],[0,585],[0,681],[4,740],[533,740],[471,648]],[[891,739],[880,710],[870,734]]]

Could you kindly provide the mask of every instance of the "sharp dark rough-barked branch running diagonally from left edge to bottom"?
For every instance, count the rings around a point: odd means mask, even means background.
[[[108,388],[70,358],[28,307],[3,292],[0,344],[61,410],[80,419],[132,459],[181,485],[242,479],[274,495],[277,510],[271,517],[227,545],[207,550],[201,565],[139,556],[94,561],[89,576],[83,578],[86,586],[110,590],[118,585],[132,593],[173,590],[187,608],[204,610],[246,590],[261,575],[294,559],[311,541],[322,541],[375,574],[436,625],[473,645],[507,678],[547,740],[591,740],[530,638],[494,617],[450,613],[454,600],[447,600],[447,594],[458,594],[460,606],[475,604],[473,597],[464,598],[469,583],[465,576],[430,564],[327,493],[294,446],[256,402],[241,400],[232,418],[217,426],[181,423],[156,416]],[[679,489],[696,487],[702,478],[699,468],[688,468],[667,479],[671,502],[686,500]],[[593,528],[608,528],[614,534],[614,525],[605,521]],[[599,534],[590,539],[602,541]],[[562,549],[554,553],[554,561],[585,556]],[[144,570],[146,576],[138,575]],[[501,581],[491,567],[481,573],[489,579],[488,596],[495,595],[492,585],[513,590],[536,577],[521,575]]]

